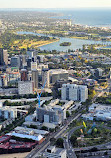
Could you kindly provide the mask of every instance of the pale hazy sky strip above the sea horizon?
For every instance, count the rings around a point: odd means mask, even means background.
[[[0,0],[0,8],[111,7],[111,0]]]

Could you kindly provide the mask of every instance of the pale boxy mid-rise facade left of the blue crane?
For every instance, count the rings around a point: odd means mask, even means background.
[[[33,82],[32,81],[19,81],[18,82],[19,94],[33,94]]]

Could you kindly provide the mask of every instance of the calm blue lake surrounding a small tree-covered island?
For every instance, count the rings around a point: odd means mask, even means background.
[[[45,34],[38,34],[33,32],[18,32],[18,34],[33,34],[38,36],[47,36]],[[60,46],[60,43],[62,42],[71,42],[70,46]],[[68,49],[76,50],[81,49],[83,44],[105,44],[105,45],[111,45],[111,42],[102,42],[102,41],[94,41],[94,40],[81,40],[81,39],[75,39],[75,38],[66,38],[66,37],[60,37],[60,40],[54,43],[50,43],[44,46],[39,47],[41,50],[57,50],[57,51],[68,51]]]

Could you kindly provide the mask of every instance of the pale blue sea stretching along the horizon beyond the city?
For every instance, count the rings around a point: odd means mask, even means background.
[[[71,19],[72,23],[111,28],[111,8],[78,8],[78,9],[0,9],[0,11],[39,11],[39,12],[55,12],[62,16],[53,18]]]

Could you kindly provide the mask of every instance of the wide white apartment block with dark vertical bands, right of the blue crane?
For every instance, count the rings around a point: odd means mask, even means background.
[[[61,98],[62,100],[85,102],[88,99],[88,88],[84,85],[63,84]]]

